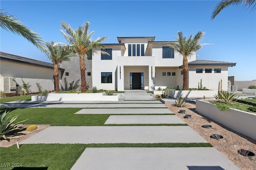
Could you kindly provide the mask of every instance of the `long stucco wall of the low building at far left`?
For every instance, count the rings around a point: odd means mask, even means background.
[[[4,91],[3,77],[12,77],[15,79],[18,93],[22,89],[21,77],[25,83],[29,83],[31,85],[29,88],[30,92],[38,92],[36,83],[40,83],[42,89],[54,90],[53,75],[53,69],[50,68],[14,63],[10,61],[1,61],[0,90]],[[59,73],[59,75],[61,76],[61,73]]]

